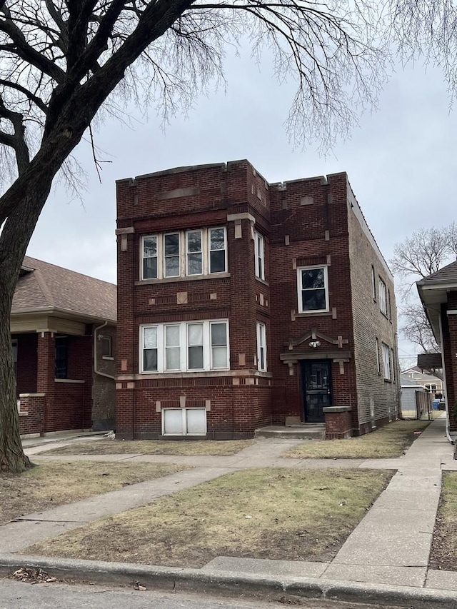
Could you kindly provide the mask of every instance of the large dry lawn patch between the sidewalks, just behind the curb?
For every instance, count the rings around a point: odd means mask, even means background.
[[[331,560],[390,470],[243,470],[24,553],[201,567],[219,555]]]

